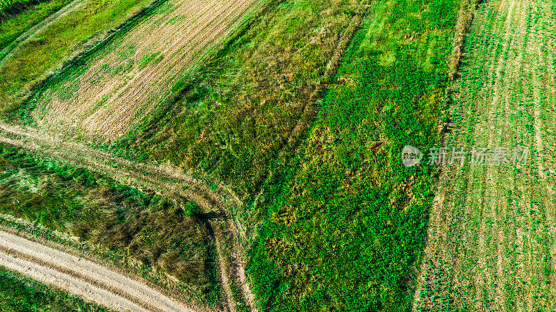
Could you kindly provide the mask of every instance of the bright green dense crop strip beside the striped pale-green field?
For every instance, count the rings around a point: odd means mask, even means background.
[[[269,183],[250,267],[265,311],[411,309],[434,170],[400,151],[438,140],[459,5],[433,2],[373,1],[302,151]]]

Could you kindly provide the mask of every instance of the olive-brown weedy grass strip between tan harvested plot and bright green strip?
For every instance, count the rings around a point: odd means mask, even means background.
[[[311,93],[329,80],[327,63],[349,40],[360,8],[348,1],[268,1],[151,122],[115,149],[124,156],[195,167],[250,195],[287,161],[308,126]],[[309,102],[309,103],[308,103]]]

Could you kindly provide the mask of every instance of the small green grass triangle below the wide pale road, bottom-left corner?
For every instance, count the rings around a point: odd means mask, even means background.
[[[96,304],[49,288],[0,267],[2,312],[108,312]]]

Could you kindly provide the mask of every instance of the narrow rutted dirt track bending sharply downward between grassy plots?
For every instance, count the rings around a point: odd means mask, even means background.
[[[231,290],[231,283],[235,283],[245,298],[248,309],[257,311],[252,300],[254,295],[245,279],[244,250],[239,243],[237,227],[229,210],[229,206],[243,204],[234,195],[220,191],[222,188],[208,188],[204,182],[172,167],[133,163],[32,128],[0,124],[0,142],[31,149],[70,165],[85,167],[133,188],[146,188],[159,194],[173,192],[197,203],[205,213],[215,211],[219,217],[208,222],[213,229],[218,249],[224,306],[228,311],[236,311],[236,299]]]

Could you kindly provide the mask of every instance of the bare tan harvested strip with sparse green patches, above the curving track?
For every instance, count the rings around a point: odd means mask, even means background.
[[[122,136],[167,99],[253,2],[167,1],[84,67],[76,65],[59,83],[49,85],[33,100],[33,118],[53,131]]]

